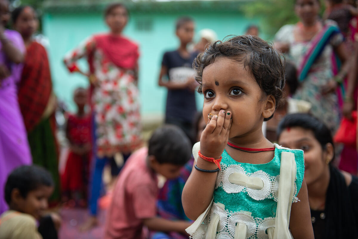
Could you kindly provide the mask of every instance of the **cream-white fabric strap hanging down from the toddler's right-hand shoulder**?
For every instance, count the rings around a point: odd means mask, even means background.
[[[295,193],[296,170],[295,155],[291,152],[282,152],[274,239],[292,238],[289,223],[292,198]]]

